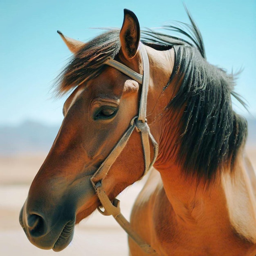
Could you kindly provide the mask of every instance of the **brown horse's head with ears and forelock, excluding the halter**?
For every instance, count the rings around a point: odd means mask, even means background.
[[[75,223],[101,204],[91,179],[138,115],[141,84],[106,65],[106,57],[110,55],[138,76],[144,72],[139,51],[139,22],[131,11],[124,11],[120,32],[107,32],[89,44],[58,33],[74,54],[63,73],[60,90],[76,89],[64,103],[61,128],[20,212],[20,224],[31,243],[54,251],[64,249],[72,240]],[[154,78],[153,68],[149,86],[156,79],[161,86],[166,84],[169,70],[168,67],[167,73]],[[149,100],[152,102],[158,96],[156,92],[149,94]],[[154,108],[151,106],[149,111],[155,113]],[[148,121],[153,118],[151,115]],[[110,200],[144,174],[141,137],[138,132],[129,136],[102,182]],[[155,136],[159,139],[159,134]],[[153,159],[153,148],[150,143],[149,161]]]

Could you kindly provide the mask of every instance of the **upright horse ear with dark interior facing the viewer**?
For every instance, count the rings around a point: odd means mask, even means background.
[[[120,31],[121,52],[126,58],[133,58],[139,47],[139,21],[132,11],[124,9],[124,22]]]

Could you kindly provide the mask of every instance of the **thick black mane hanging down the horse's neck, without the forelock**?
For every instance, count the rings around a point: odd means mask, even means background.
[[[177,160],[186,174],[212,180],[217,171],[232,168],[247,137],[246,120],[232,110],[234,77],[210,65],[194,47],[174,50],[171,80],[176,79],[180,88],[168,108],[184,109]]]

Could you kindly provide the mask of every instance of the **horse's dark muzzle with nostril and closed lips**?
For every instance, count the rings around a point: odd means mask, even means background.
[[[62,209],[63,210],[63,209]],[[63,211],[58,211],[63,212]],[[27,211],[27,201],[20,211],[20,225],[29,241],[40,249],[53,249],[59,252],[65,249],[74,236],[75,214],[47,216],[36,211]]]

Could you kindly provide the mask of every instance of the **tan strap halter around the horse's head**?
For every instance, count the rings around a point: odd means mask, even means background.
[[[154,137],[150,133],[150,129],[147,124],[146,119],[146,106],[147,106],[147,94],[148,94],[148,82],[149,82],[149,61],[148,61],[148,54],[146,52],[145,46],[140,43],[139,50],[142,56],[143,62],[143,76],[138,74],[137,72],[133,71],[129,67],[126,67],[124,64],[115,61],[111,57],[108,57],[104,64],[114,67],[115,69],[121,71],[122,73],[126,74],[130,78],[134,79],[138,83],[142,83],[141,88],[141,97],[140,97],[140,104],[139,104],[139,113],[137,116],[133,117],[130,126],[124,133],[124,135],[119,139],[116,146],[112,149],[108,157],[105,161],[101,164],[99,169],[94,173],[91,177],[90,181],[92,182],[92,186],[94,187],[99,200],[104,207],[104,211],[98,208],[98,210],[106,216],[112,215],[115,220],[119,223],[119,225],[126,231],[126,233],[141,247],[141,249],[146,253],[156,253],[155,250],[141,237],[132,230],[130,223],[124,218],[121,214],[119,203],[120,201],[116,198],[113,202],[110,201],[106,192],[103,189],[102,183],[112,164],[115,162],[121,151],[126,146],[127,141],[130,138],[133,130],[136,128],[137,132],[141,134],[141,144],[144,153],[144,162],[145,162],[145,170],[143,176],[148,172],[151,166],[153,166],[157,153],[158,153],[158,144],[155,141]],[[154,157],[152,162],[150,162],[150,141],[153,144],[154,148]]]

